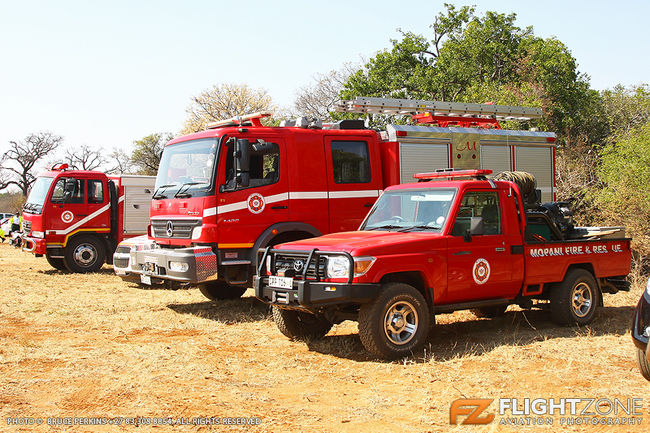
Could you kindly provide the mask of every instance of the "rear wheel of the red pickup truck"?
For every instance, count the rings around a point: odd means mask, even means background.
[[[572,269],[551,288],[551,319],[564,326],[587,325],[596,316],[601,296],[589,271]]]

